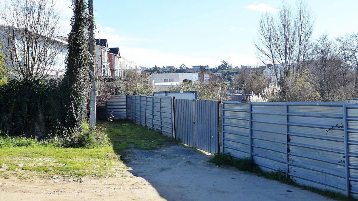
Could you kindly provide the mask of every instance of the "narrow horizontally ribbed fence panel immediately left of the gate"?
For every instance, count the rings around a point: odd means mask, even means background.
[[[173,137],[172,97],[159,97],[161,133]]]

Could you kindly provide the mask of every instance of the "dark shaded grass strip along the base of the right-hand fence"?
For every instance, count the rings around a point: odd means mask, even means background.
[[[320,190],[319,188],[299,185],[295,181],[286,178],[285,172],[265,172],[258,167],[256,163],[254,163],[250,158],[235,158],[231,155],[224,153],[216,153],[212,158],[209,159],[209,162],[215,163],[216,165],[222,166],[233,166],[238,168],[238,170],[255,173],[258,176],[267,178],[269,180],[279,181],[281,183],[286,183],[288,185],[292,185],[303,190],[308,190],[311,192],[315,192],[321,194],[325,197],[329,197],[335,200],[357,200],[353,197],[347,197],[342,193],[328,191],[328,190]]]

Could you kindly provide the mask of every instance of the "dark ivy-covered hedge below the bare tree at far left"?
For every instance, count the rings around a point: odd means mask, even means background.
[[[40,80],[0,86],[0,130],[10,136],[45,137],[59,127],[56,88]]]

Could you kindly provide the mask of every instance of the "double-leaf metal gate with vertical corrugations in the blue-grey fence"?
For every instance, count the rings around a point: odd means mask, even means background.
[[[209,153],[219,151],[219,102],[174,99],[175,135],[187,144]]]

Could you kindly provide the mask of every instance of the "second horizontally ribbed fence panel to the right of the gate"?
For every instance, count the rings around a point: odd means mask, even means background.
[[[287,169],[286,103],[251,103],[252,158],[264,171]]]

